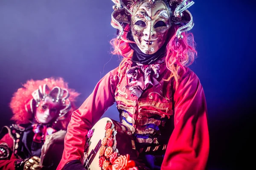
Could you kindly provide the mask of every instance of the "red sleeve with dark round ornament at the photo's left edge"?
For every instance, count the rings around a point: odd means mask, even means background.
[[[0,170],[15,170],[16,159],[13,156],[13,139],[6,133],[2,139],[0,139]]]

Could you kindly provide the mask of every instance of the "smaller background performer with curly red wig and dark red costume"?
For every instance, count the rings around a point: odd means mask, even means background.
[[[61,78],[29,80],[19,88],[10,103],[16,124],[3,127],[0,133],[0,169],[41,169],[44,140],[67,129],[78,95]]]

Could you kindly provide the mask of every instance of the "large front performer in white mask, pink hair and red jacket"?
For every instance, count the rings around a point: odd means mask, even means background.
[[[203,87],[187,66],[196,51],[190,0],[112,0],[118,68],[96,85],[68,125],[58,170],[84,170],[88,130],[116,102],[149,169],[204,170],[209,153]],[[105,168],[106,169],[106,168]],[[112,167],[112,169],[115,169]]]

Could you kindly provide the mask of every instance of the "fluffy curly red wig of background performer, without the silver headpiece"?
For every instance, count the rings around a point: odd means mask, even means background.
[[[58,129],[66,130],[67,125],[70,121],[70,116],[73,111],[76,109],[74,104],[76,97],[79,96],[74,89],[68,88],[67,82],[64,82],[63,78],[47,78],[43,80],[28,80],[25,84],[23,84],[22,88],[19,88],[17,92],[13,94],[12,100],[10,102],[10,108],[12,109],[13,116],[12,120],[17,124],[27,124],[31,122],[34,118],[34,114],[26,109],[26,105],[32,101],[33,96],[32,93],[38,90],[39,86],[47,85],[49,89],[58,86],[61,89],[67,89],[69,92],[69,101],[71,105],[71,109],[65,114],[65,118],[61,121],[58,121],[55,124],[55,127]],[[32,103],[32,102],[31,102]],[[35,102],[33,102],[32,108],[35,108]]]

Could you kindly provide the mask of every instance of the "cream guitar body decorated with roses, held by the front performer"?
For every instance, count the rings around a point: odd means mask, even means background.
[[[87,170],[137,169],[137,151],[131,131],[110,118],[100,119],[87,134],[82,163]]]

